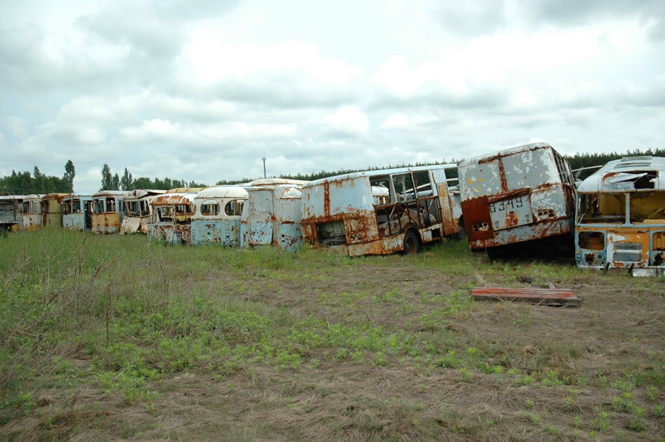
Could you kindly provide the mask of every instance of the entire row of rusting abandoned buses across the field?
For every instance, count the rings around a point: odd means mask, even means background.
[[[443,164],[337,175],[268,178],[204,189],[0,196],[0,225],[62,225],[96,234],[145,233],[194,246],[303,243],[336,253],[416,253],[466,236],[473,250],[556,239],[578,267],[665,269],[665,158],[610,161],[584,181],[550,145],[536,143]],[[456,182],[455,185],[452,185]]]

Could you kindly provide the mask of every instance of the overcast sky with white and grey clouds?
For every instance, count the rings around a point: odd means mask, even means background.
[[[482,6],[480,6],[482,4]],[[100,187],[665,148],[663,0],[0,4],[0,176]]]

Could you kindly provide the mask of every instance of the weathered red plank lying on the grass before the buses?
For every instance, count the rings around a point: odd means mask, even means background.
[[[553,307],[579,307],[581,300],[567,288],[501,288],[476,287],[471,289],[475,300],[516,301]]]

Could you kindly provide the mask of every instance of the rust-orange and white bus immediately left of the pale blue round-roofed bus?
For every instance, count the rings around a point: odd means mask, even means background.
[[[150,205],[152,217],[147,225],[148,239],[164,243],[190,242],[195,193],[171,193],[155,196]]]

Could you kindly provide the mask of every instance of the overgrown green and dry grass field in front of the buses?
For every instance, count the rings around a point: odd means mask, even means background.
[[[229,411],[229,438],[308,439],[312,428],[331,439],[665,436],[662,317],[648,314],[664,306],[659,280],[640,280],[636,297],[626,276],[489,262],[464,243],[349,258],[61,229],[0,239],[0,275],[2,438],[183,437],[186,427],[154,428],[148,417],[166,418],[185,375],[224,401],[254,398],[239,410],[265,410],[260,422]],[[577,288],[584,304],[470,297],[481,283],[524,281]],[[403,386],[369,402],[338,391],[340,382],[374,391],[377,376]],[[304,396],[289,399],[295,386]],[[508,394],[487,396],[493,389]],[[533,399],[518,400],[522,391]],[[117,410],[140,410],[145,425],[118,424]]]

